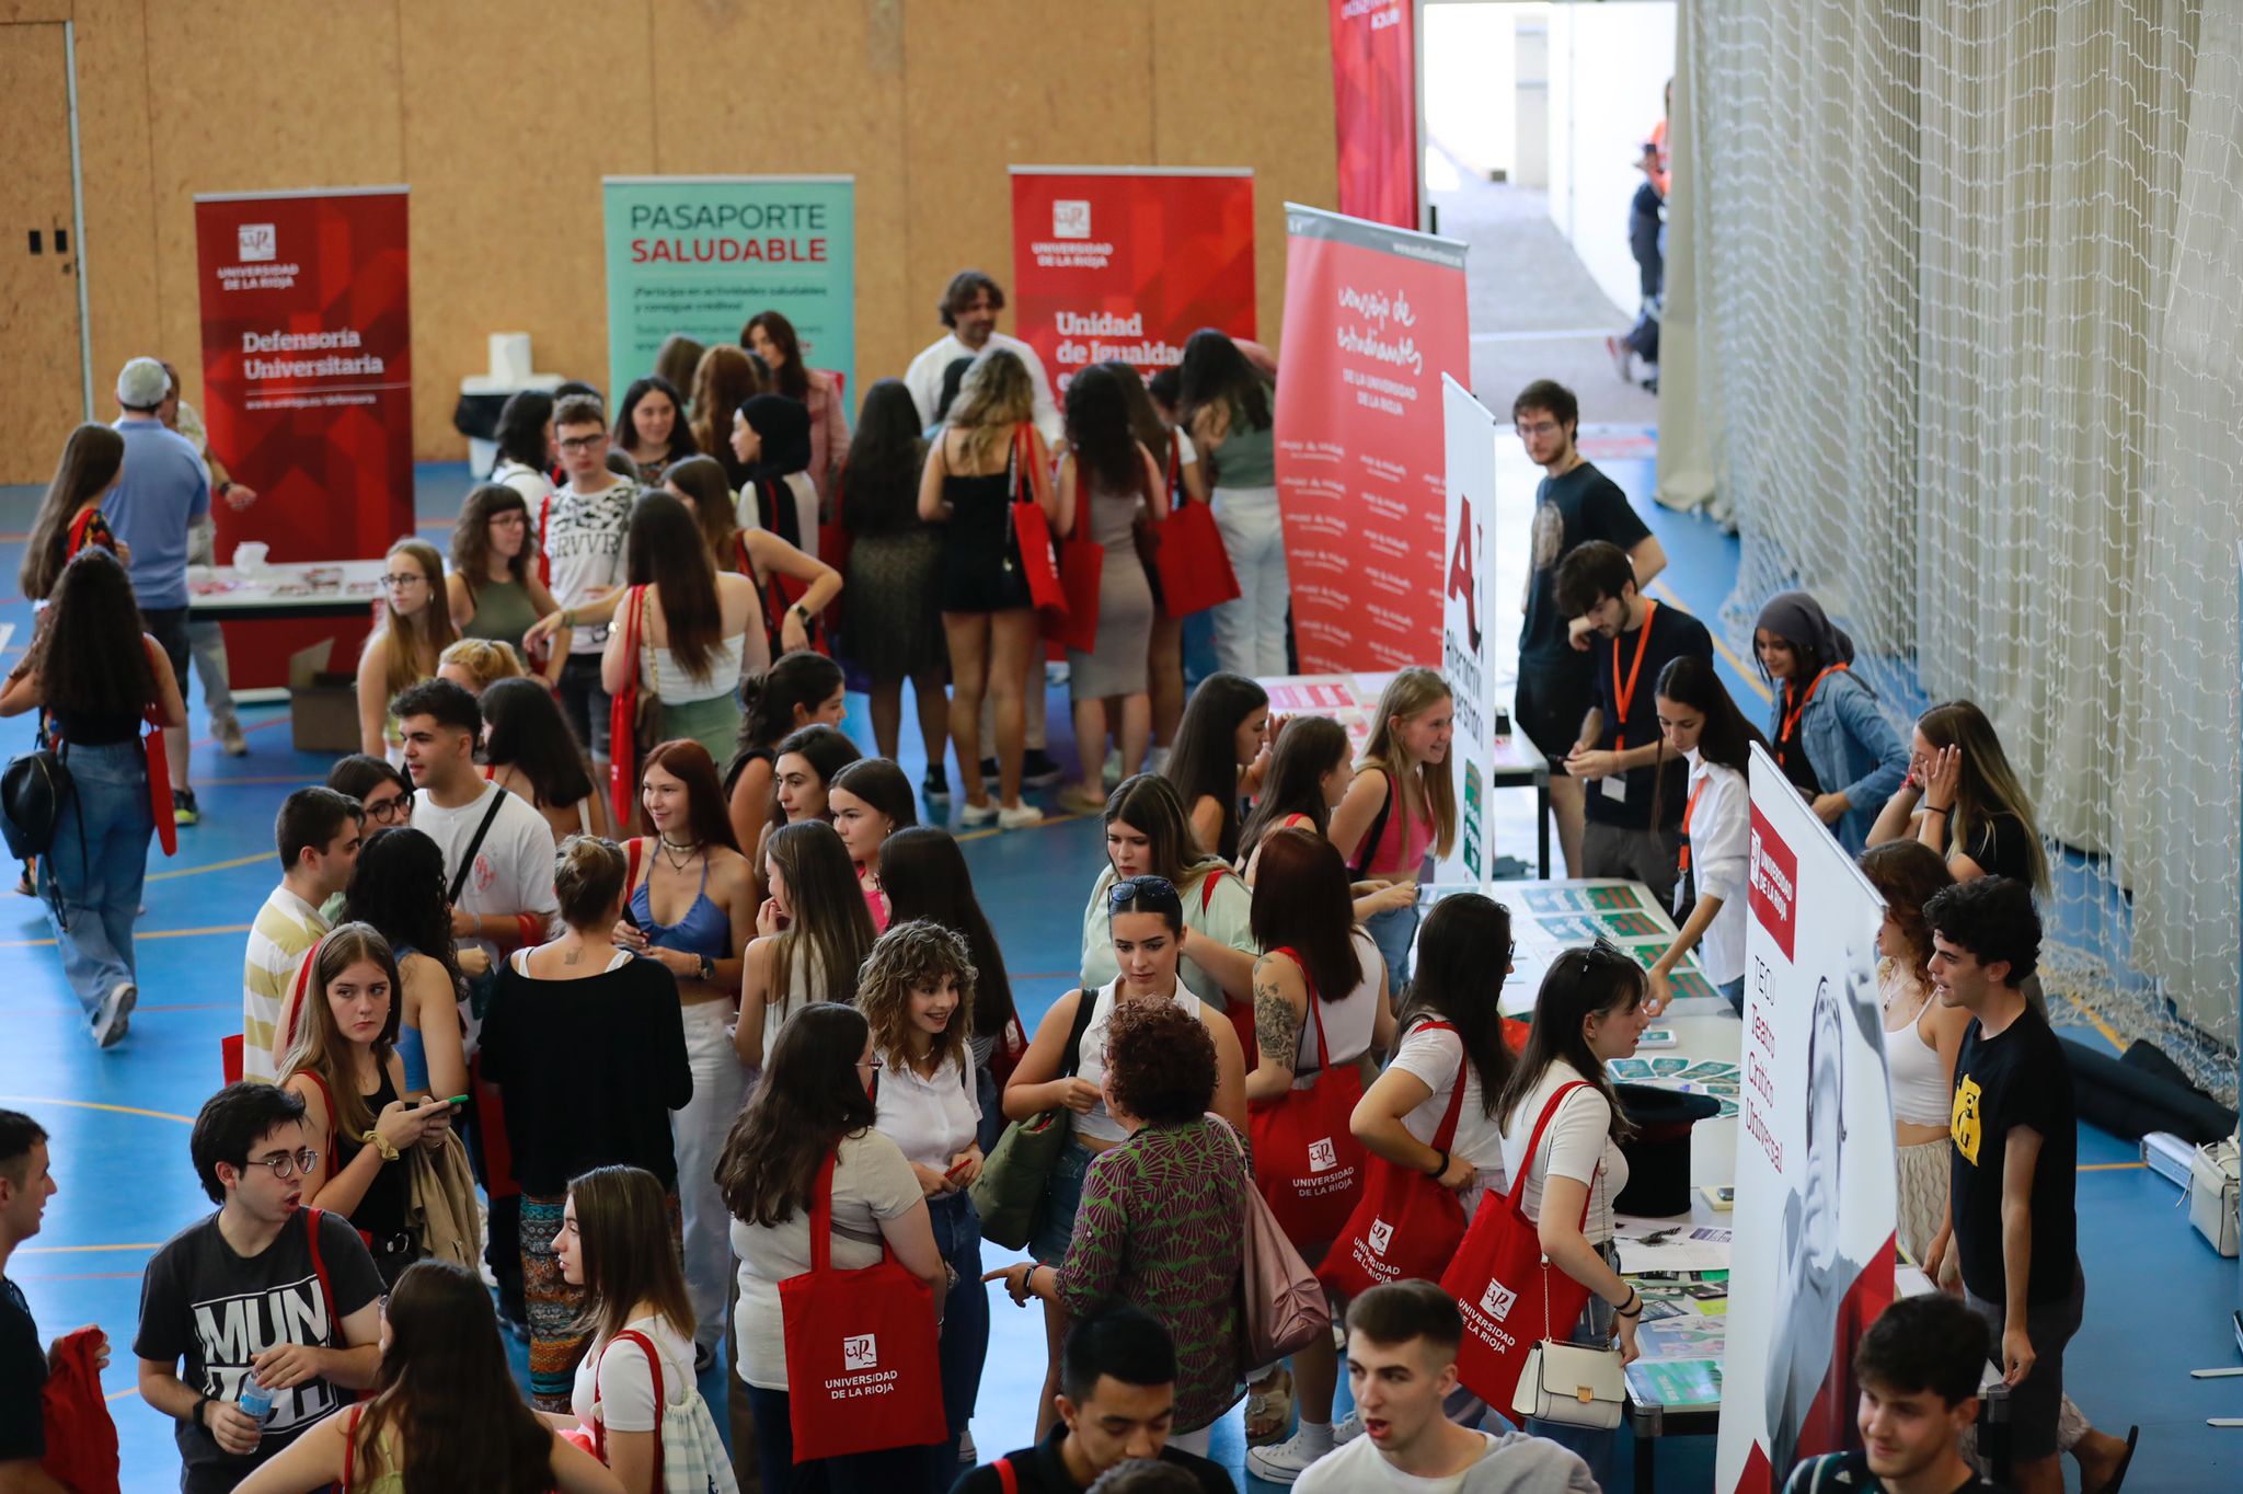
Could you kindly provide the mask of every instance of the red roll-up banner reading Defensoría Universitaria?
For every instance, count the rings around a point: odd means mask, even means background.
[[[256,489],[213,502],[218,563],[379,559],[413,532],[413,328],[406,188],[195,197],[204,424]],[[366,621],[229,621],[236,689],[287,682],[287,655],[334,637],[352,668]]]

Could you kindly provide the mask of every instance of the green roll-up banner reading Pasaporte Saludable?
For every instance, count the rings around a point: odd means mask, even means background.
[[[749,316],[778,312],[857,402],[855,177],[606,177],[601,195],[610,399],[671,332],[738,343]]]

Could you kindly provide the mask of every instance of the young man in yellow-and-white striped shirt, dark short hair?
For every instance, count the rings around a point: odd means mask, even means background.
[[[274,846],[280,886],[265,897],[249,924],[242,956],[242,1079],[274,1083],[280,1061],[274,1030],[296,983],[296,967],[327,933],[321,904],[350,886],[366,821],[359,801],[330,787],[305,787],[280,801]]]

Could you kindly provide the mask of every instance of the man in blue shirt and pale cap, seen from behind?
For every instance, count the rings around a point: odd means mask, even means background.
[[[186,689],[186,532],[211,511],[211,473],[157,408],[170,393],[170,375],[157,359],[132,359],[117,375],[117,404],[126,413],[117,433],[126,437],[126,467],[101,505],[101,516],[132,547],[132,590],[139,594],[141,628],[170,655],[170,673]],[[186,785],[186,727],[164,727],[170,756],[170,817],[193,826],[195,790]]]

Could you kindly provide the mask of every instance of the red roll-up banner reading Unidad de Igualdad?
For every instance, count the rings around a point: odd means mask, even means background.
[[[1014,166],[1012,316],[1054,395],[1106,359],[1160,372],[1200,328],[1254,336],[1254,173]]]

